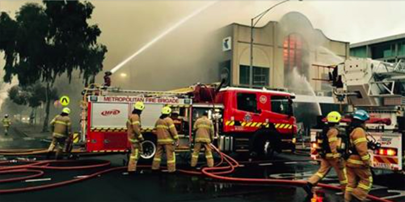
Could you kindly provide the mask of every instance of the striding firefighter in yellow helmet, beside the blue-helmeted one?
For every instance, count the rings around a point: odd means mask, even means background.
[[[330,112],[327,116],[328,125],[322,130],[320,137],[317,137],[318,152],[321,156],[320,168],[308,179],[307,184],[304,186],[304,190],[310,197],[312,197],[312,187],[325,177],[331,168],[335,169],[340,187],[345,192],[347,185],[346,169],[341,154],[338,152],[338,136],[343,134],[338,126],[340,120],[341,115],[339,112]]]

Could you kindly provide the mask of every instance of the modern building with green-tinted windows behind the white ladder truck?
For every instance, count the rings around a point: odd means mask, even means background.
[[[350,56],[389,63],[405,60],[405,33],[350,44]]]

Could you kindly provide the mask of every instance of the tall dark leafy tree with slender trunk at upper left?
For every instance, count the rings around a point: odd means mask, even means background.
[[[27,3],[12,19],[0,15],[0,52],[5,53],[4,81],[17,76],[20,86],[46,82],[46,130],[52,85],[67,73],[69,82],[79,70],[84,82],[102,71],[107,52],[97,43],[98,25],[89,25],[94,6],[79,1],[44,1],[43,5]]]

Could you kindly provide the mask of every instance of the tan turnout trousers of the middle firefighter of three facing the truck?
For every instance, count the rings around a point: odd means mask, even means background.
[[[157,144],[156,154],[152,162],[152,170],[158,170],[160,168],[161,156],[163,151],[166,150],[166,159],[168,162],[169,173],[176,171],[176,154],[174,152],[173,144]]]

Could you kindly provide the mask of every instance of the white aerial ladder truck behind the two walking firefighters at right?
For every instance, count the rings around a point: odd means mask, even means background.
[[[375,168],[403,171],[405,134],[405,64],[352,58],[335,67],[330,75],[336,104],[348,105],[348,113],[355,109],[369,112],[366,122],[369,140],[381,144],[369,150]],[[349,122],[342,119],[342,122]],[[344,125],[345,123],[343,123]],[[321,130],[311,130],[311,146]],[[312,149],[313,151],[313,149]],[[312,152],[311,157],[317,154]]]

